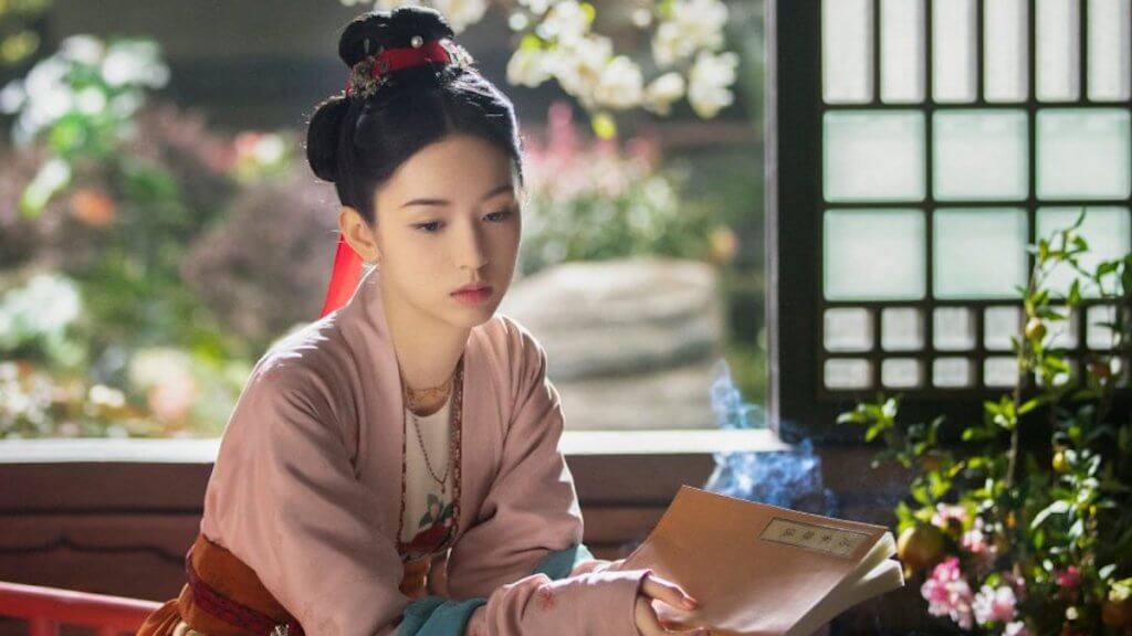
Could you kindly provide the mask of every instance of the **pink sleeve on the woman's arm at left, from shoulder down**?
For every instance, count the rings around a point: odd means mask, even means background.
[[[309,388],[323,380],[293,369],[257,369],[245,388],[203,531],[254,569],[307,634],[395,634],[409,599],[377,497],[354,479],[331,407]]]

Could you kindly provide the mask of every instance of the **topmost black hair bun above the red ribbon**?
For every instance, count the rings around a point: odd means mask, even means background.
[[[393,11],[370,11],[346,25],[338,40],[338,57],[353,67],[379,48],[400,49],[410,45],[414,35],[424,40],[441,40],[454,35],[444,16],[428,7],[398,7]]]

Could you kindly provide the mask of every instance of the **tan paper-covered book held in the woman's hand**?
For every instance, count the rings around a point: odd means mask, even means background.
[[[713,636],[808,636],[846,609],[904,584],[889,528],[685,485],[624,568],[679,584],[700,608],[660,601],[670,628]]]

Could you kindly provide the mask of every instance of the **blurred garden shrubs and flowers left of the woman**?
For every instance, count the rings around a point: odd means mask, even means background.
[[[152,42],[76,36],[3,88],[0,437],[217,435],[317,312],[329,256],[297,257],[333,191],[291,134],[155,103],[166,78]]]

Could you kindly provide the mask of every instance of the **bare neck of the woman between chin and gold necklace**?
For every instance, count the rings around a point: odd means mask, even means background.
[[[410,389],[417,390],[446,383],[464,353],[470,329],[421,316],[387,296],[384,287],[381,303],[401,367],[402,381]]]

